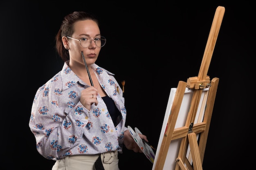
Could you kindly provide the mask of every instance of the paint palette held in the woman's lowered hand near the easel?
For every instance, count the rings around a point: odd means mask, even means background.
[[[147,143],[144,143],[143,140],[139,137],[138,133],[142,134],[139,129],[135,127],[135,131],[133,131],[130,126],[128,126],[128,129],[141,151],[146,155],[151,163],[154,163],[155,153],[153,149]]]

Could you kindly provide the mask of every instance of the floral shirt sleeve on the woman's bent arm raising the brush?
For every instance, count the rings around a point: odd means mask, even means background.
[[[66,98],[51,83],[38,89],[34,98],[29,127],[35,135],[38,152],[47,159],[68,155],[74,143],[79,143],[88,122],[89,111],[80,101],[64,102]]]

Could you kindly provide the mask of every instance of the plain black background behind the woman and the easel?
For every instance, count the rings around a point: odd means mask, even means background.
[[[225,14],[207,75],[220,81],[203,169],[252,167],[255,10],[245,1],[1,2],[3,163],[37,170],[54,164],[37,153],[28,123],[36,90],[63,66],[54,38],[65,15],[87,11],[97,16],[107,38],[97,64],[115,73],[120,85],[126,81],[126,123],[156,147],[170,89],[198,76],[218,6]],[[126,149],[119,154],[120,170],[141,166],[152,169],[144,154]]]

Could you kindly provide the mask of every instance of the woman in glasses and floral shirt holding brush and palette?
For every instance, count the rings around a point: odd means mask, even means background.
[[[92,15],[75,11],[64,17],[56,35],[63,69],[36,92],[29,121],[38,152],[56,160],[53,170],[119,170],[123,144],[141,152],[125,127],[114,74],[95,64],[105,43]]]

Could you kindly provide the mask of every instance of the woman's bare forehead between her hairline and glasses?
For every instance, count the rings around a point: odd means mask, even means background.
[[[93,20],[82,20],[74,23],[74,35],[98,35],[99,26]]]

